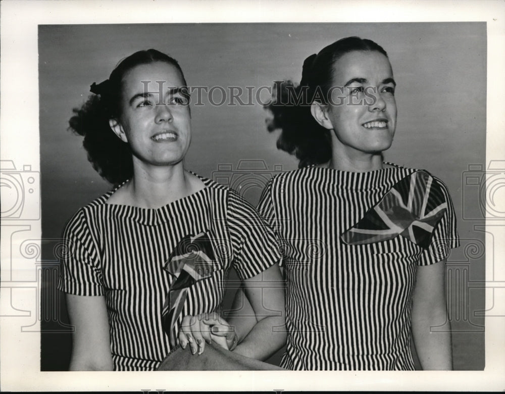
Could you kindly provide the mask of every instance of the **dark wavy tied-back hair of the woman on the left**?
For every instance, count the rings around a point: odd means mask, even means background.
[[[114,185],[133,175],[130,146],[119,139],[109,126],[110,119],[121,116],[121,82],[134,67],[155,62],[173,65],[187,85],[177,60],[154,49],[138,51],[119,62],[109,79],[93,83],[90,90],[95,94],[90,95],[80,108],[74,108],[74,116],[69,120],[69,130],[84,136],[82,144],[93,168]]]

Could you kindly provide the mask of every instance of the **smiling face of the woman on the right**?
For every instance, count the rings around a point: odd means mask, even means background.
[[[375,51],[343,55],[333,65],[333,86],[327,116],[339,152],[356,156],[387,150],[396,128],[395,82],[387,57]]]

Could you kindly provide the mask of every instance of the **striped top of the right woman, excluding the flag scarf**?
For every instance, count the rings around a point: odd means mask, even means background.
[[[307,167],[267,184],[258,211],[283,243],[288,343],[281,366],[294,370],[412,370],[411,295],[418,265],[459,245],[447,202],[428,249],[405,236],[346,244],[341,235],[402,178],[392,165],[372,172]],[[431,177],[431,176],[430,176]]]

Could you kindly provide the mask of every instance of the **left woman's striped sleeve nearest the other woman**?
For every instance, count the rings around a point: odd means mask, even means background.
[[[234,190],[228,196],[228,226],[234,249],[233,265],[241,280],[256,276],[280,261],[274,232]]]

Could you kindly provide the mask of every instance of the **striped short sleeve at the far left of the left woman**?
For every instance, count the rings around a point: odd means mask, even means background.
[[[103,295],[103,274],[83,210],[67,223],[63,242],[58,289],[74,295]]]

